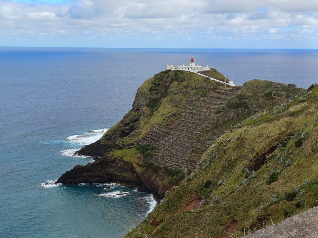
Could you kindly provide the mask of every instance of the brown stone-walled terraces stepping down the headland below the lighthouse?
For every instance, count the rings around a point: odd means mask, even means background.
[[[212,141],[196,143],[199,130],[238,90],[218,89],[199,101],[185,106],[181,119],[170,126],[157,126],[141,140],[155,146],[153,160],[159,164],[181,169],[194,169]]]

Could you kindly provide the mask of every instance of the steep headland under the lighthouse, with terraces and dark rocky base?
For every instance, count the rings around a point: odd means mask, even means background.
[[[225,78],[215,69],[208,73]],[[120,182],[142,185],[144,190],[163,195],[181,182],[182,174],[196,168],[206,149],[224,133],[221,125],[229,127],[231,120],[255,110],[257,95],[249,94],[251,85],[237,94],[237,90],[223,89],[222,84],[191,72],[160,72],[137,90],[132,109],[120,122],[100,140],[78,151],[97,156],[95,162],[75,166],[57,182]],[[272,94],[275,87],[269,83],[259,93]],[[264,105],[271,100],[273,97]],[[147,157],[136,150],[144,143],[154,148]]]

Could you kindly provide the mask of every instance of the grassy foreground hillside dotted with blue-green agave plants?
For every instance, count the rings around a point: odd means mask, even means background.
[[[253,91],[250,90],[252,97]],[[271,223],[270,217],[274,223],[278,223],[318,205],[318,87],[312,92],[308,95],[311,99],[306,102],[296,98],[282,112],[272,114],[273,109],[266,109],[265,116],[262,116],[264,112],[257,112],[244,120],[241,128],[227,130],[205,152],[201,165],[190,175],[188,182],[185,182],[186,178],[183,184],[171,191],[164,203],[158,204],[156,211],[149,214],[127,237],[138,237],[138,234],[149,234],[150,237],[220,237],[232,219],[239,224],[234,229],[235,235],[242,236],[247,226],[259,229],[263,222]],[[278,91],[273,92],[277,96],[275,93]],[[288,95],[286,97],[289,98]],[[263,97],[259,99],[255,103],[264,106]],[[279,102],[280,99],[277,100]],[[249,98],[243,98],[244,101],[249,102]],[[251,100],[250,103],[254,102]],[[272,103],[275,103],[274,100]],[[301,136],[290,136],[301,129],[307,136],[301,147],[295,147],[295,142]],[[284,142],[286,147],[277,149],[280,142]],[[285,161],[279,163],[277,158],[283,155]],[[250,157],[253,158],[252,163],[249,162]],[[287,160],[291,161],[291,165],[285,165]],[[206,168],[203,169],[203,166]],[[243,185],[245,167],[250,171],[255,169],[257,177]],[[266,181],[273,168],[275,171],[281,169],[282,172],[280,175],[275,172],[278,180],[268,185]],[[208,180],[211,186],[205,188],[204,184]],[[219,180],[224,181],[221,186],[217,185]],[[309,185],[303,184],[305,180],[310,181]],[[240,187],[235,190],[239,184]],[[306,192],[304,196],[297,194],[303,203],[295,199],[286,201],[286,194],[293,192],[296,187]],[[274,194],[278,196],[270,202]],[[221,199],[214,202],[217,195]],[[200,209],[183,210],[186,204],[198,197],[205,201]],[[263,209],[259,212],[261,206]],[[153,218],[161,223],[152,226]],[[229,237],[226,233],[223,235]]]

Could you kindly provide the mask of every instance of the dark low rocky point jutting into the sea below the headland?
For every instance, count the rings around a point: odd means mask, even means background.
[[[56,183],[110,183],[120,182],[125,185],[142,184],[131,162],[114,158],[99,160],[75,167],[63,174]]]

